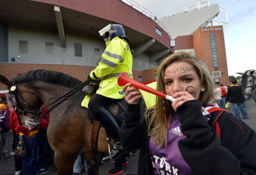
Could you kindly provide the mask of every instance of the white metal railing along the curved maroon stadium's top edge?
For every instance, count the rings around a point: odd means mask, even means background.
[[[148,11],[146,8],[144,8],[143,6],[141,6],[140,4],[136,3],[136,2],[133,1],[133,0],[120,0],[120,1],[122,1],[123,3],[125,3],[125,4],[127,4],[127,5],[129,5],[129,6],[131,6],[131,8],[137,10],[138,12],[140,12],[140,13],[142,13],[143,15],[147,16],[148,18],[154,20],[155,23],[156,23],[157,25],[159,25],[159,26],[169,35],[169,37],[170,37],[171,39],[173,39],[172,36],[171,36],[171,34],[170,34],[170,32],[169,32],[169,30],[164,26],[163,23],[161,23],[161,22],[156,18],[156,16],[155,16],[153,13],[151,13],[151,12]]]

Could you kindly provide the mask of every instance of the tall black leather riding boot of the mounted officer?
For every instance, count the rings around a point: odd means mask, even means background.
[[[99,110],[97,110],[94,115],[97,118],[97,120],[100,121],[101,125],[105,128],[105,130],[108,132],[109,136],[114,139],[114,146],[112,147],[110,154],[113,161],[115,161],[124,153],[119,138],[120,128],[118,126],[118,123],[116,122],[115,118],[111,115],[111,113],[104,107],[101,107]],[[110,155],[104,156],[101,159],[101,163],[105,164],[110,162],[111,157]]]

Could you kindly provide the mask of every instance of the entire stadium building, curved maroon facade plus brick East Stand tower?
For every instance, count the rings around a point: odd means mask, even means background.
[[[9,80],[18,73],[48,69],[85,81],[106,48],[98,31],[111,23],[121,24],[130,39],[135,81],[155,81],[159,61],[178,50],[203,58],[216,81],[228,81],[224,43],[228,23],[213,24],[219,19],[218,4],[208,2],[163,19],[132,0],[0,0],[0,4],[0,74]],[[0,84],[3,90],[6,86]]]

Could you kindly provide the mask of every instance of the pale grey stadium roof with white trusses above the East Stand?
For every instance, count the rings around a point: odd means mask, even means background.
[[[192,35],[200,27],[217,25],[223,25],[225,34],[229,23],[227,10],[210,1],[195,3],[159,20],[173,38]]]

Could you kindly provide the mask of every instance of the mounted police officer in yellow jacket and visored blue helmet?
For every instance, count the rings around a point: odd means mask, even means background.
[[[124,97],[123,88],[118,86],[117,79],[120,73],[126,72],[132,77],[132,54],[128,45],[129,38],[125,36],[124,29],[118,24],[109,24],[99,31],[106,42],[106,49],[102,54],[99,65],[89,74],[88,78],[101,79],[96,95],[88,103],[88,108],[94,117],[100,121],[109,136],[114,139],[114,146],[110,153],[113,161],[123,154],[119,138],[119,126],[113,115],[105,106],[113,99]],[[110,155],[102,158],[101,162],[110,161]]]

